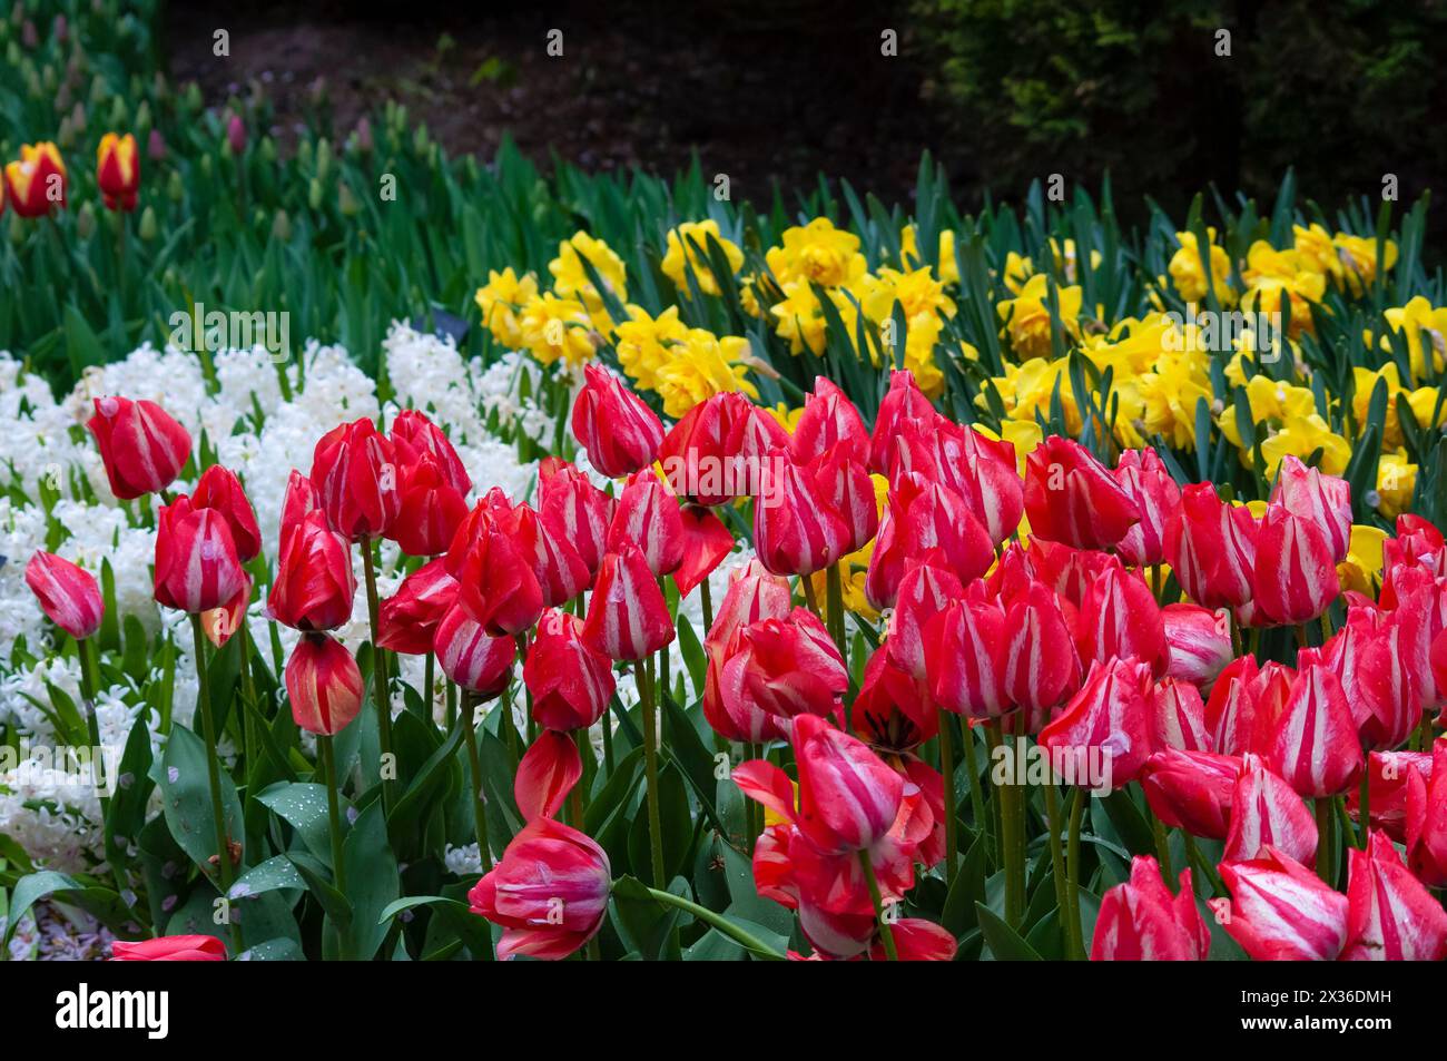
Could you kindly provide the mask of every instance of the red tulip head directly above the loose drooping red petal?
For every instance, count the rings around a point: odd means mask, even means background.
[[[586,730],[608,711],[614,664],[583,638],[576,615],[547,611],[528,646],[522,682],[532,693],[532,717],[548,730]]]

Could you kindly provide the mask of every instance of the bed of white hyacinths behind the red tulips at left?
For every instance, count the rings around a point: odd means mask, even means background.
[[[554,413],[527,397],[538,394],[541,384],[540,368],[531,358],[506,355],[485,366],[478,359],[464,360],[449,339],[396,323],[383,343],[383,356],[391,385],[385,407],[378,402],[376,382],[344,349],[315,342],[304,347],[298,360],[281,365],[262,347],[218,350],[211,355],[210,373],[194,353],[148,344],[123,360],[87,369],[61,400],[42,379],[22,372],[20,362],[0,353],[0,415],[7,424],[0,433],[0,725],[33,741],[54,740],[48,715],[51,689],[80,702],[78,663],[74,656],[48,654],[48,624],[25,585],[26,562],[46,547],[48,538],[55,544],[54,551],[97,578],[109,563],[120,617],[135,617],[148,637],[165,631],[177,650],[172,719],[191,721],[197,676],[188,621],[179,612],[159,609],[152,596],[155,530],[148,501],[116,501],[100,455],[84,430],[98,397],[155,401],[198,446],[204,439],[217,462],[245,485],[268,554],[275,549],[289,469],[310,469],[317,439],[330,427],[359,417],[382,415],[391,423],[402,408],[421,410],[449,433],[478,495],[501,486],[515,499],[531,498],[537,466],[518,460],[515,440],[525,436],[547,452],[559,430]],[[577,465],[596,482],[606,482],[586,457],[580,456]],[[59,496],[49,511],[41,504],[42,483],[52,496]],[[175,489],[187,492],[191,485],[178,482]],[[14,496],[30,501],[17,504]],[[401,554],[395,544],[383,543],[381,556],[378,592],[385,598],[401,585]],[[724,599],[729,573],[747,560],[747,554],[737,554],[713,572],[715,604]],[[360,554],[353,562],[360,583]],[[684,599],[680,618],[702,638],[700,599],[699,592]],[[265,599],[253,601],[247,628],[268,657],[272,627]],[[276,633],[282,651],[272,663],[279,672],[298,634],[287,627],[276,627]],[[350,621],[333,633],[353,650],[369,640],[365,593],[357,593]],[[17,644],[26,648],[23,659],[12,651]],[[677,641],[671,664],[673,675],[686,673]],[[394,666],[402,682],[423,689],[424,657],[396,657]],[[625,702],[637,702],[631,675],[619,677],[619,695]],[[440,669],[430,701],[440,722],[446,714],[446,680]],[[511,702],[514,724],[522,728],[524,698],[505,702]],[[396,696],[394,711],[402,706],[402,698]],[[164,735],[158,732],[158,712],[145,706],[140,689],[126,679],[124,685],[100,690],[101,744],[123,747],[143,715],[159,754]],[[593,747],[601,750],[601,728],[595,727],[590,735]],[[223,754],[229,753],[223,747]],[[36,770],[0,772],[0,835],[16,840],[38,864],[67,871],[93,868],[103,857],[98,818],[98,800],[85,786],[49,783]],[[476,864],[476,845],[447,853],[451,868],[473,871]]]

